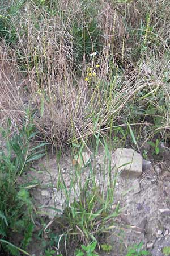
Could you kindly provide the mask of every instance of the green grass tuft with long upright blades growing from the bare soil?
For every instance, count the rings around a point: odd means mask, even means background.
[[[59,227],[59,230],[62,230],[59,233],[60,237],[62,234],[62,239],[58,240],[57,234],[52,234],[51,236],[49,232],[48,237],[53,241],[52,246],[58,246],[59,243],[62,244],[65,241],[66,245],[69,245],[70,242],[76,241],[76,246],[80,243],[84,246],[88,245],[87,248],[89,249],[92,242],[99,241],[100,236],[117,226],[116,217],[120,214],[121,209],[119,204],[117,204],[116,208],[112,208],[116,177],[111,175],[111,154],[107,142],[105,142],[105,139],[100,134],[96,136],[95,142],[94,158],[97,156],[99,144],[101,143],[105,150],[104,162],[107,163],[104,165],[103,170],[100,170],[99,181],[96,179],[96,170],[92,157],[88,160],[84,157],[87,154],[83,152],[84,143],[73,143],[74,161],[73,170],[70,171],[69,189],[58,163],[57,189],[61,191],[65,204],[63,214],[56,218],[56,225]],[[57,162],[60,162],[59,155],[57,156]],[[86,170],[85,173],[84,170]],[[101,186],[99,186],[99,183]],[[83,250],[85,248],[83,247]],[[85,252],[81,251],[82,253]],[[78,255],[81,254],[79,251]]]

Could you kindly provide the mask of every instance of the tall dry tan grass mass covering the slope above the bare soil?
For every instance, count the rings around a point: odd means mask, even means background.
[[[16,44],[1,43],[1,115],[17,123],[29,109],[42,137],[63,145],[129,116],[145,122],[165,98],[155,115],[168,127],[167,1],[56,6],[23,5]]]

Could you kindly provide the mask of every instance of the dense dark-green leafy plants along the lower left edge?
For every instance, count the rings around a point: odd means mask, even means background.
[[[1,127],[6,146],[0,152],[0,238],[8,241],[14,234],[21,234],[20,246],[26,249],[34,229],[33,204],[29,188],[18,181],[31,163],[45,154],[46,143],[31,148],[31,140],[37,134],[35,127],[26,122],[11,135],[10,125],[8,121],[7,129]],[[2,243],[2,247],[11,255],[19,255],[10,243]]]

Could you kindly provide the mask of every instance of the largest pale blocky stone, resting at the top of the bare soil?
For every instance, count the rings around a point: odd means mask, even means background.
[[[121,177],[135,178],[142,174],[142,156],[132,148],[117,148],[114,152],[116,171]]]

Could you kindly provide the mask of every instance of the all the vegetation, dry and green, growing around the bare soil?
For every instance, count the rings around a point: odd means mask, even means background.
[[[154,156],[161,142],[169,146],[169,0],[0,5],[0,251],[29,255],[37,240],[43,256],[65,255],[69,247],[77,256],[97,255],[100,247],[109,253],[104,236],[121,229],[110,150],[130,143],[147,159],[143,144]],[[100,146],[103,187],[92,164]],[[59,162],[65,148],[75,161],[69,188]],[[49,224],[31,193],[41,181],[30,175],[28,182],[27,174],[51,149],[58,177],[50,185],[64,203],[63,214],[54,205]],[[85,163],[87,149],[92,158]],[[128,255],[149,254],[139,243]]]

